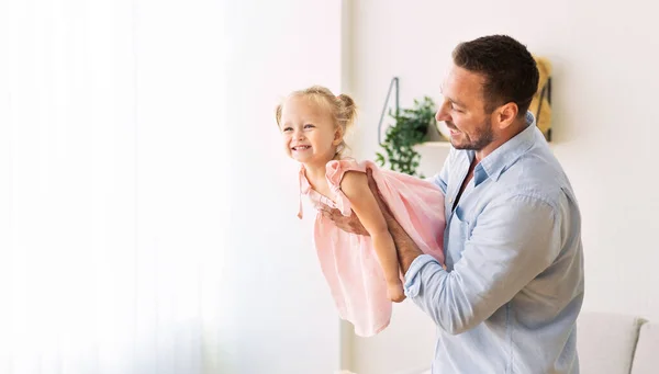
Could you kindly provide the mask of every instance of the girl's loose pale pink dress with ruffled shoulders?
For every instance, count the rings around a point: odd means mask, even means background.
[[[346,159],[327,163],[325,177],[334,194],[332,200],[311,188],[304,167],[300,170],[300,193],[309,196],[316,209],[324,204],[349,216],[350,201],[340,190],[340,181],[346,171],[366,172],[367,167],[407,235],[421,250],[444,264],[444,194],[431,182],[380,169],[370,161]],[[301,204],[298,216],[302,218]],[[384,329],[391,318],[391,302],[370,237],[346,233],[316,212],[314,246],[340,318],[351,322],[355,333],[361,337]]]

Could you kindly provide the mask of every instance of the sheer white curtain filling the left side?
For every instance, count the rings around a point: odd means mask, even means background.
[[[220,1],[0,0],[0,374],[221,372],[222,35]]]

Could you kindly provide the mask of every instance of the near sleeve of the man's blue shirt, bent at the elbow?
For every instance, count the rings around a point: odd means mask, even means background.
[[[447,272],[432,257],[417,257],[405,274],[405,294],[445,331],[455,335],[471,329],[559,254],[558,212],[548,202],[527,195],[492,202],[460,243],[465,248],[454,269]]]

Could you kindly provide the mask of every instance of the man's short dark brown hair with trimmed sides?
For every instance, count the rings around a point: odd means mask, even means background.
[[[485,78],[485,112],[514,102],[518,117],[528,110],[538,89],[538,68],[526,46],[506,35],[483,36],[460,43],[453,53],[454,64]]]

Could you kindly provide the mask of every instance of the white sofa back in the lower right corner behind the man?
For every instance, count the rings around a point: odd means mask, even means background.
[[[659,324],[582,313],[577,321],[577,351],[580,374],[659,374]]]

